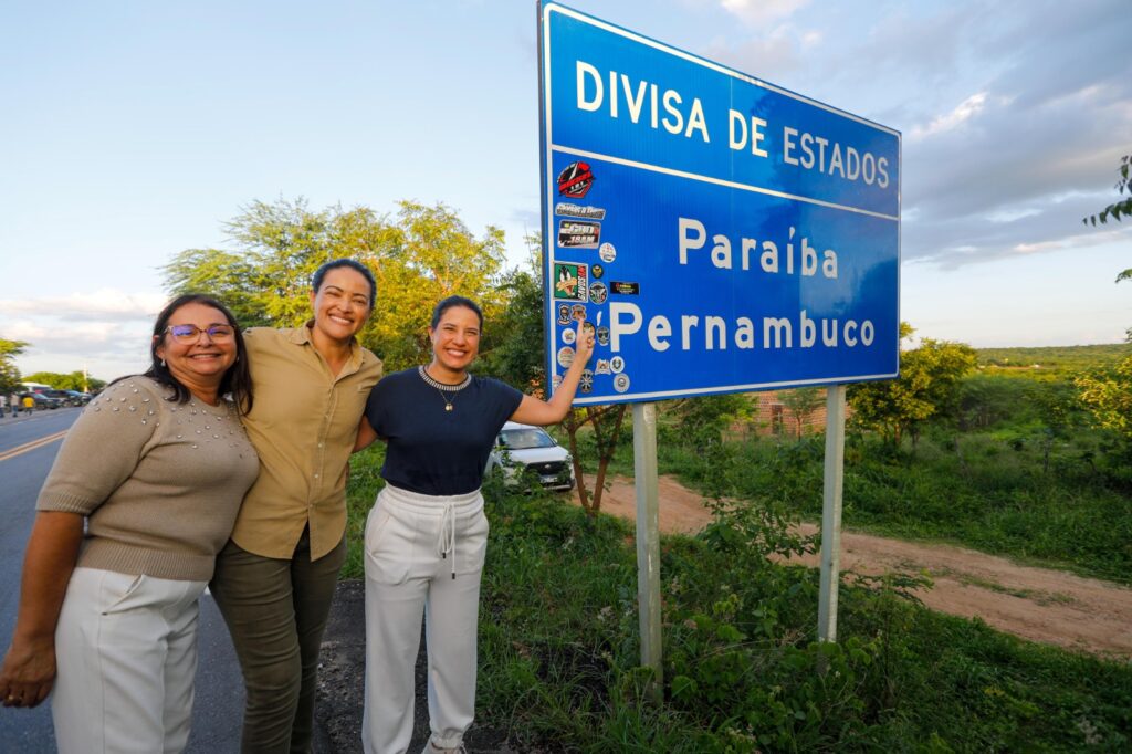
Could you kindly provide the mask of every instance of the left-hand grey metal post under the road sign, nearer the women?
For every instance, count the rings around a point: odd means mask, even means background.
[[[657,491],[657,404],[633,404],[633,462],[636,475],[637,605],[641,665],[652,668],[653,696],[663,688],[660,662],[660,503]]]

